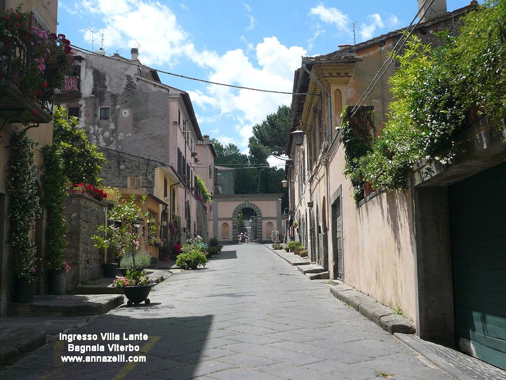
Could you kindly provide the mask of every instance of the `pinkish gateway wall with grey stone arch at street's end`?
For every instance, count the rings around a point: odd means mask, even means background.
[[[210,232],[209,236],[216,236],[224,243],[237,243],[237,234],[240,232],[237,217],[245,209],[254,216],[251,218],[251,228],[255,229],[254,235],[259,242],[270,241],[273,230],[282,235],[284,219],[281,218],[281,194],[238,194],[213,196],[213,233]],[[253,239],[252,236],[249,238],[250,241]]]

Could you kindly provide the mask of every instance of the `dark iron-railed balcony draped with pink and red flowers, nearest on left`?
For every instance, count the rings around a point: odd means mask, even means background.
[[[32,62],[28,45],[14,37],[0,40],[0,117],[10,123],[49,123],[53,119],[53,96],[40,89],[27,96],[21,90],[19,68]]]

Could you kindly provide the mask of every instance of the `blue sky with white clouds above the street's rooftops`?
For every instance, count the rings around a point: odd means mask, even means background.
[[[452,11],[468,0],[447,0]],[[302,56],[366,41],[406,27],[417,0],[202,2],[159,0],[60,0],[58,32],[72,45],[130,58],[207,81],[291,91]],[[92,34],[91,30],[94,31]],[[202,134],[247,153],[252,126],[290,95],[238,90],[161,74],[163,83],[187,91]],[[274,163],[274,161],[273,161]]]

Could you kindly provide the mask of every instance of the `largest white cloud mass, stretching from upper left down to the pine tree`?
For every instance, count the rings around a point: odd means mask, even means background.
[[[247,44],[247,51],[235,49],[224,54],[197,51],[174,12],[160,3],[81,0],[78,5],[84,16],[94,13],[102,19],[106,51],[108,48],[114,51],[118,48],[130,50],[137,41],[142,63],[160,67],[175,65],[178,59],[188,60],[207,71],[206,78],[202,79],[211,82],[290,92],[293,72],[300,67],[301,57],[307,53],[302,47],[282,45],[275,36],[265,38],[256,46]],[[82,30],[82,33],[87,41],[91,41],[89,30]],[[97,33],[94,37],[97,37]],[[246,43],[245,39],[241,40]],[[98,45],[97,41],[95,45]],[[253,51],[255,54],[247,54]],[[228,130],[235,131],[236,136],[232,139],[220,136],[219,140],[225,144],[233,142],[243,151],[252,135],[252,126],[276,112],[279,105],[290,104],[291,101],[291,95],[287,94],[210,84],[188,92],[193,104],[199,107],[196,111],[200,114],[201,127],[202,123],[213,122],[228,126]]]

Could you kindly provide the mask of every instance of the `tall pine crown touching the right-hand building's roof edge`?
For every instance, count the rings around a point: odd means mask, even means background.
[[[253,126],[249,138],[250,161],[254,164],[267,163],[269,156],[282,156],[290,130],[290,107],[281,105],[275,113],[267,115],[261,124]]]

